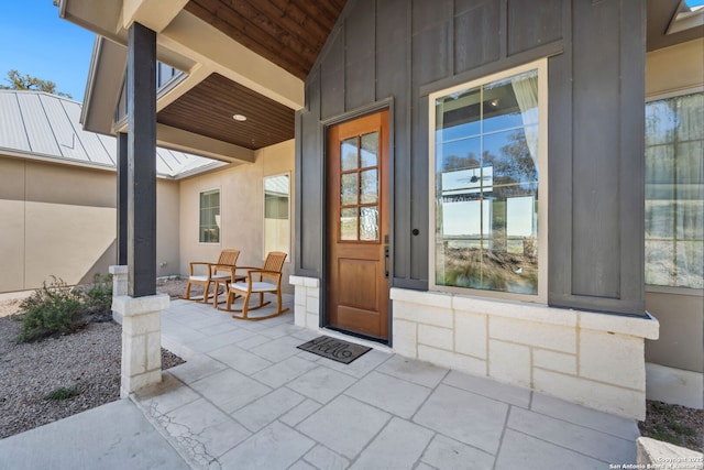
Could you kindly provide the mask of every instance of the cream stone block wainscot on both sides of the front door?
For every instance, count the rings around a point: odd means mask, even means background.
[[[296,325],[317,329],[319,283],[292,276]],[[658,321],[392,288],[394,352],[632,419],[646,416],[644,340]]]

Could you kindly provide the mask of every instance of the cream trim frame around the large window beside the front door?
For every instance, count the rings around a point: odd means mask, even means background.
[[[470,287],[453,287],[436,284],[436,99],[446,95],[450,95],[463,89],[479,87],[484,84],[497,81],[504,78],[519,75],[529,70],[538,70],[538,190],[540,192],[540,201],[538,205],[538,294],[526,295],[507,292],[484,291]],[[472,81],[435,91],[428,96],[428,184],[429,184],[429,231],[430,243],[428,247],[428,280],[429,289],[438,292],[448,292],[453,294],[462,294],[468,296],[498,298],[506,300],[531,302],[539,304],[548,303],[548,58],[541,58],[529,64],[514,67],[501,73],[492,74],[477,78]]]

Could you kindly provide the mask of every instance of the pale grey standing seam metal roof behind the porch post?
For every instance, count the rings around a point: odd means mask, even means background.
[[[114,168],[117,139],[80,125],[81,105],[44,91],[0,90],[0,154]],[[156,149],[156,173],[178,178],[226,163]]]

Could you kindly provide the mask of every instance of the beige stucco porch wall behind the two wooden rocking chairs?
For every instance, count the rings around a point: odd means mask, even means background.
[[[216,261],[227,248],[240,250],[238,264],[261,266],[264,253],[264,176],[290,173],[290,223],[294,214],[294,141],[283,142],[256,152],[256,161],[180,183],[180,273],[188,274],[190,261]],[[220,189],[220,243],[198,241],[199,194]],[[293,249],[293,247],[292,247]],[[284,266],[284,286],[293,272],[293,252]]]

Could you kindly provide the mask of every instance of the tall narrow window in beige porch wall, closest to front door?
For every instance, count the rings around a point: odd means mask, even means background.
[[[271,251],[289,253],[289,176],[266,176],[264,178],[264,253]]]

